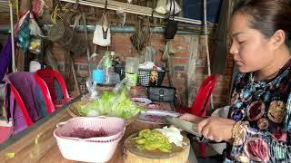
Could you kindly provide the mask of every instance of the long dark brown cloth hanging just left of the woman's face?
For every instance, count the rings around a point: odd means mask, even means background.
[[[229,1],[223,0],[220,8],[220,16],[218,26],[216,30],[216,47],[215,53],[211,58],[211,72],[213,74],[224,74],[226,71],[226,38],[227,38],[227,26],[230,17],[230,5]]]

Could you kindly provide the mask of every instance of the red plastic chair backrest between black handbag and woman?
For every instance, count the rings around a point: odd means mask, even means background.
[[[195,101],[193,101],[191,106],[192,114],[199,117],[206,116],[206,110],[209,106],[210,97],[215,88],[217,77],[217,74],[213,74],[208,76],[206,80],[202,82],[202,85],[196,94]]]

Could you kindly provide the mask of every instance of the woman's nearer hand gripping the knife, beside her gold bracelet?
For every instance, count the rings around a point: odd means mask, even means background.
[[[230,142],[235,123],[235,120],[210,117],[198,123],[198,131],[207,139]]]

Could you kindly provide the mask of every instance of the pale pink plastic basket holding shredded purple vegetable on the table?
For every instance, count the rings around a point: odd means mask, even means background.
[[[55,129],[54,137],[62,156],[66,159],[84,162],[108,161],[114,155],[118,142],[122,139],[125,133],[125,120],[113,117],[76,117],[59,123],[58,125],[60,126]],[[82,127],[85,129],[102,128],[111,132],[116,132],[116,134],[121,134],[113,140],[108,140],[106,137],[103,137],[102,139],[99,139],[101,137],[90,138],[90,140],[63,137],[67,132],[71,132],[72,129],[75,129],[76,127]],[[96,141],[95,139],[98,140]]]

